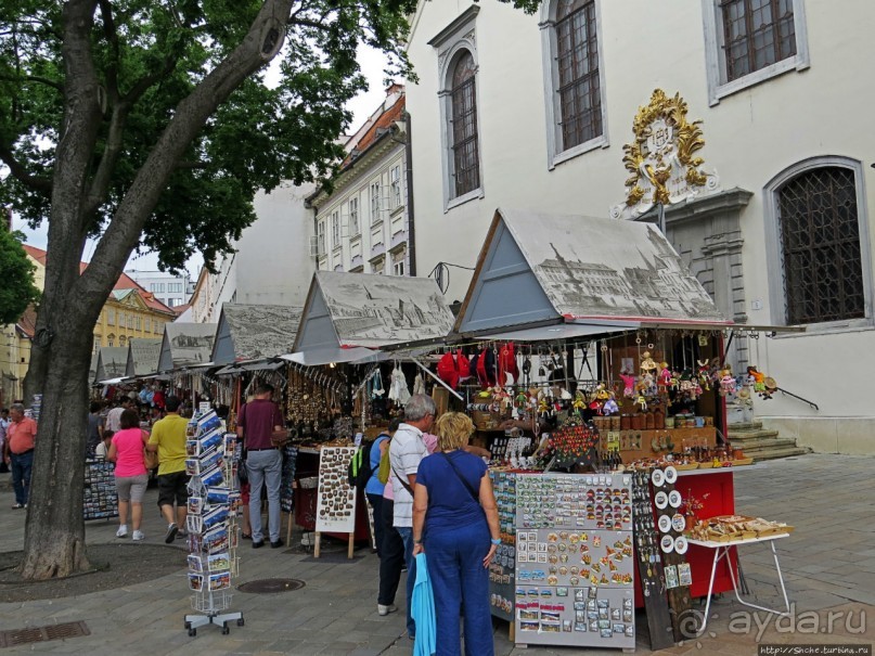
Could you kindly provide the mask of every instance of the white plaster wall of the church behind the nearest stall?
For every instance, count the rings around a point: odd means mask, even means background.
[[[668,8],[652,0],[600,1],[608,145],[549,170],[539,17],[496,0],[476,18],[484,197],[443,211],[437,57],[427,41],[471,5],[421,2],[409,54],[420,83],[408,83],[413,118],[417,268],[438,261],[476,263],[489,221],[500,206],[606,216],[623,198],[622,145],[632,119],[659,87],[680,92],[690,119],[703,119],[706,169],[724,189],[754,192],[742,216],[744,271],[751,322],[772,323],[763,221],[763,186],[799,160],[840,155],[862,160],[864,190],[875,186],[875,136],[870,129],[875,85],[875,2],[806,2],[810,68],[789,72],[708,106],[702,3]],[[870,224],[875,200],[866,193]],[[875,230],[872,230],[875,235]],[[875,241],[875,240],[874,240]],[[868,246],[872,257],[873,244]],[[453,269],[449,300],[462,299],[469,273]],[[761,300],[752,310],[750,301]],[[871,417],[864,390],[875,371],[875,332],[844,332],[769,342],[760,369],[787,389],[815,401],[819,416]],[[832,383],[831,383],[832,382]],[[803,403],[775,397],[758,413],[809,414]],[[875,441],[875,440],[874,440]]]

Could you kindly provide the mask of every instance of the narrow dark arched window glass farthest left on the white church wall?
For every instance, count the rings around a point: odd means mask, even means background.
[[[474,57],[469,51],[463,50],[452,69],[452,115],[448,130],[452,138],[452,189],[455,198],[480,186],[475,72]]]

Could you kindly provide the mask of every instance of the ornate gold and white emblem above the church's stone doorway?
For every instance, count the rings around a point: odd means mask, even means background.
[[[700,120],[686,119],[686,101],[656,89],[632,121],[635,139],[623,146],[622,162],[632,173],[626,180],[626,203],[612,208],[615,218],[634,218],[657,204],[670,205],[718,188],[716,175],[704,172],[705,145]]]

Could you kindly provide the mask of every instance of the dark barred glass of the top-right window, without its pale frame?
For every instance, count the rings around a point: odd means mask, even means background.
[[[796,54],[793,0],[721,0],[726,81]]]

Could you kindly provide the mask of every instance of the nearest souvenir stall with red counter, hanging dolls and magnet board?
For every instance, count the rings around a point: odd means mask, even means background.
[[[454,334],[486,360],[466,394],[497,447],[491,601],[518,643],[634,646],[630,604],[647,608],[654,648],[682,638],[712,564],[684,515],[733,515],[732,467],[749,463],[723,437],[733,330],[651,224],[496,213]],[[505,438],[512,419],[550,434],[537,458],[540,439]],[[713,592],[732,588],[730,562]]]

